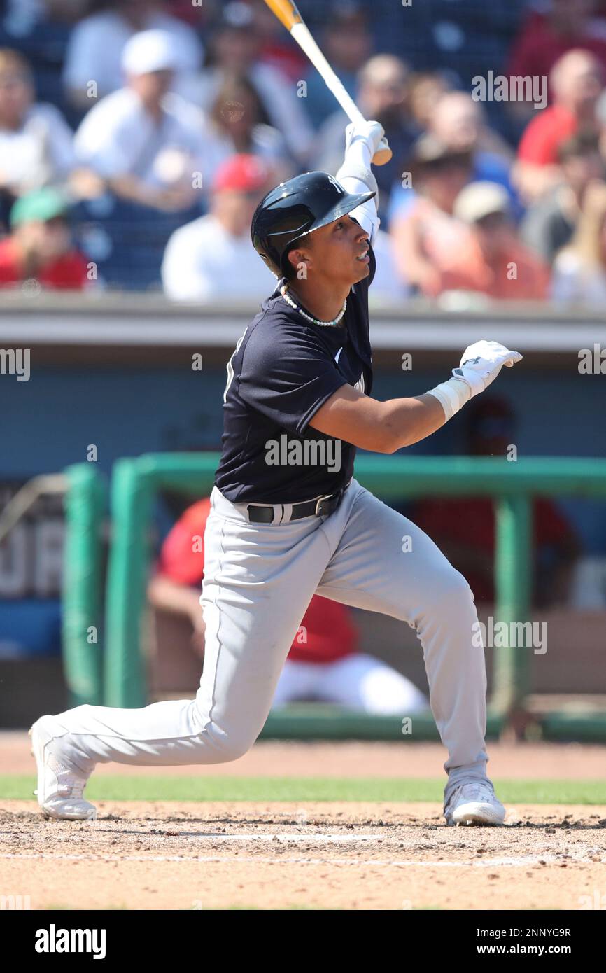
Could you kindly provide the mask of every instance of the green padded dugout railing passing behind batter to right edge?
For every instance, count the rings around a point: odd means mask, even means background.
[[[114,467],[105,614],[106,705],[147,703],[140,627],[151,558],[149,525],[153,498],[160,489],[183,490],[196,496],[207,494],[218,460],[217,453],[163,453],[121,459]],[[356,460],[355,475],[363,486],[387,501],[428,495],[491,496],[496,507],[495,619],[505,623],[529,620],[532,496],[606,499],[606,460],[597,458],[531,457],[508,462],[503,458],[362,454]],[[502,729],[523,703],[528,692],[528,673],[528,648],[505,644],[494,649],[488,736]],[[318,716],[315,729],[311,724],[305,729],[301,717],[298,733],[294,734],[288,732],[288,726],[291,731],[295,729],[292,719],[289,723],[286,715],[270,714],[264,736],[351,736],[351,720],[348,724],[347,719],[344,715],[339,728],[339,720],[334,717]],[[584,719],[597,737],[606,735],[606,713],[588,713]],[[401,721],[397,718],[374,718],[373,725],[374,739],[402,739]],[[565,714],[550,714],[550,733],[554,736],[565,736],[567,725]],[[437,738],[431,713],[415,716],[414,728],[414,739]]]

